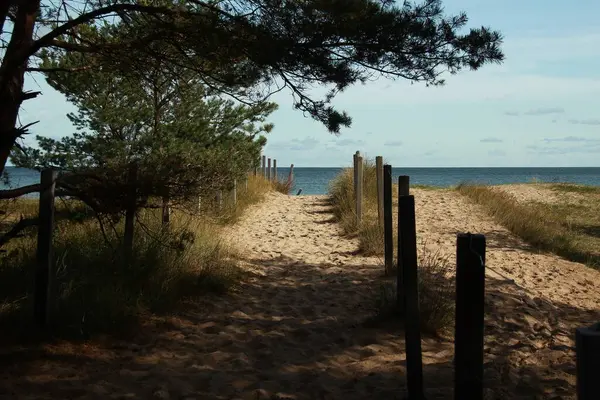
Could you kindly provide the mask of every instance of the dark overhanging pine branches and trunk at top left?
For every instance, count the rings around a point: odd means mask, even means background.
[[[0,173],[31,126],[17,118],[39,94],[23,91],[27,72],[128,76],[181,67],[248,104],[287,87],[296,108],[339,132],[351,119],[331,100],[352,84],[378,75],[439,85],[443,72],[501,62],[500,33],[464,31],[467,22],[463,13],[446,16],[440,0],[4,1]],[[65,68],[41,61],[65,56],[74,61]],[[330,89],[323,99],[311,97],[315,85]]]

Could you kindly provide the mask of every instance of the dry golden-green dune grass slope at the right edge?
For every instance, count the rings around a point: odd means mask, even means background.
[[[462,184],[457,190],[534,248],[600,267],[600,188],[535,185],[558,193],[559,200],[518,201],[508,193],[481,185]],[[566,196],[561,198],[561,193]]]

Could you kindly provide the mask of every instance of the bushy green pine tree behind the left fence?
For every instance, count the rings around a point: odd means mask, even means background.
[[[69,55],[44,60],[60,68]],[[148,65],[136,74],[99,70],[47,72],[47,81],[78,107],[68,117],[77,127],[60,140],[37,136],[37,147],[12,156],[17,166],[69,172],[60,185],[96,211],[126,207],[127,171],[138,167],[139,205],[151,197],[171,204],[228,189],[256,167],[272,129],[266,118],[277,105],[235,104],[210,95],[195,74]]]

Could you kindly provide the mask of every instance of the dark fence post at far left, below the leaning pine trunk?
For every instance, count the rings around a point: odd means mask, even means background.
[[[54,269],[52,236],[54,233],[54,192],[57,172],[45,169],[41,174],[37,265],[35,270],[34,319],[40,327],[51,322],[56,302],[56,283]]]

